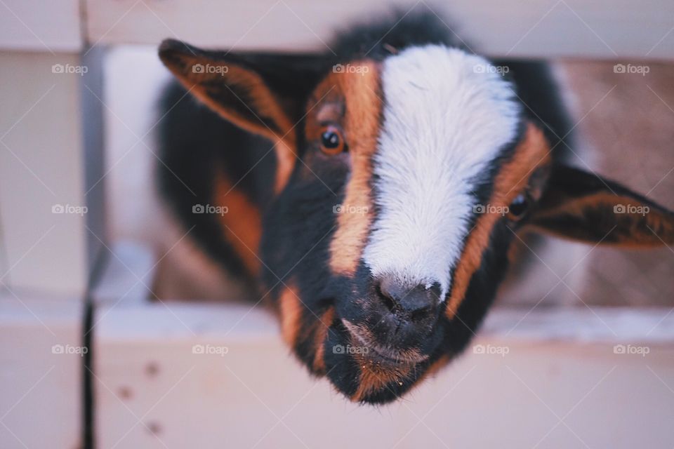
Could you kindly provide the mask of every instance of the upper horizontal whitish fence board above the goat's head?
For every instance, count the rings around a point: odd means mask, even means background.
[[[86,0],[94,43],[183,39],[199,46],[325,49],[336,29],[374,19],[391,1]],[[668,0],[397,1],[432,8],[479,53],[517,57],[674,57],[674,3]]]

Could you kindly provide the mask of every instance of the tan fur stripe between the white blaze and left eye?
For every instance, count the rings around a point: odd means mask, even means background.
[[[371,224],[371,159],[377,145],[381,119],[378,66],[371,61],[351,65],[367,67],[359,73],[336,73],[324,79],[317,93],[329,91],[324,101],[329,112],[343,112],[343,130],[349,147],[351,175],[345,187],[343,206],[359,213],[341,213],[330,243],[330,267],[334,274],[352,275],[358,265]],[[343,108],[338,105],[340,103]],[[319,123],[308,122],[308,137]]]

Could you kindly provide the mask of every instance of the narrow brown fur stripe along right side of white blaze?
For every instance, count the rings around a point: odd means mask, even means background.
[[[529,124],[524,134],[524,138],[513,154],[510,161],[503,164],[496,180],[494,181],[494,192],[491,195],[489,203],[498,208],[507,207],[527,186],[529,174],[534,171],[535,166],[543,166],[550,161],[549,145],[543,132],[536,126]],[[458,307],[465,297],[470,279],[482,263],[484,250],[489,246],[489,236],[494,229],[496,222],[501,220],[501,214],[494,210],[491,213],[485,213],[475,224],[473,232],[468,236],[468,241],[463,249],[461,259],[454,272],[454,285],[451,289],[447,310],[447,318],[454,318]]]

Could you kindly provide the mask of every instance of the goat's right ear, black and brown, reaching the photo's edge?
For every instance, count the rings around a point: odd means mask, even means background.
[[[556,166],[528,225],[586,243],[653,247],[674,244],[674,213],[625,187]]]

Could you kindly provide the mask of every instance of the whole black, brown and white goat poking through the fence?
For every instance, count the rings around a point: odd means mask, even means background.
[[[424,13],[330,48],[161,43],[179,83],[161,105],[159,185],[352,401],[393,401],[461,353],[516,234],[674,243],[671,211],[564,164],[572,127],[543,62],[474,55]]]

